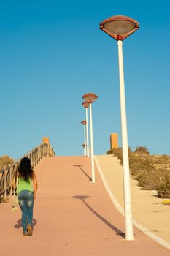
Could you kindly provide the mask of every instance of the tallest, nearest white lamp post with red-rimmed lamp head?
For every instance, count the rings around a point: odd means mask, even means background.
[[[139,29],[139,23],[132,18],[115,15],[100,23],[100,29],[117,40],[118,59],[119,59],[119,77],[120,77],[120,112],[121,112],[121,130],[122,130],[122,148],[123,148],[123,186],[124,186],[124,204],[125,204],[125,239],[134,240],[133,223],[131,214],[131,189],[129,178],[129,160],[128,160],[128,132],[125,111],[125,84],[123,72],[123,40],[130,34]]]

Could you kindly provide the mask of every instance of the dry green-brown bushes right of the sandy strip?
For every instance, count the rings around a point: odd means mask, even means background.
[[[107,151],[123,163],[122,148]],[[144,190],[157,190],[158,197],[170,198],[170,156],[152,156],[146,147],[138,146],[134,152],[128,148],[131,175]]]

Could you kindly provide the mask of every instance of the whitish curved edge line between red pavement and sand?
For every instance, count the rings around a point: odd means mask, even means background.
[[[95,156],[94,157],[96,166],[98,168],[98,173],[101,176],[101,181],[104,184],[105,189],[107,190],[107,193],[109,194],[110,199],[112,200],[112,203],[114,204],[115,208],[117,209],[117,211],[120,212],[120,214],[122,214],[124,216],[124,209],[122,208],[122,206],[120,206],[120,204],[117,202],[117,199],[115,197],[115,195],[113,195],[112,190],[110,189],[109,185],[107,184],[107,180],[104,177],[104,174],[101,170],[101,167],[98,163],[98,159]],[[170,244],[163,240],[162,238],[160,238],[159,236],[156,236],[154,233],[152,233],[150,230],[147,230],[146,227],[142,226],[139,222],[137,222],[135,219],[133,219],[133,223],[134,226],[137,227],[140,231],[142,231],[146,236],[148,236],[149,238],[151,238],[152,240],[154,240],[155,242],[157,242],[158,244],[161,244],[161,246],[165,247],[166,249],[170,250]]]

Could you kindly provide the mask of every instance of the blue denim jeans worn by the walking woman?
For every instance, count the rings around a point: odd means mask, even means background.
[[[23,233],[26,233],[27,225],[32,225],[34,197],[33,192],[22,190],[18,193],[18,203],[22,211]]]

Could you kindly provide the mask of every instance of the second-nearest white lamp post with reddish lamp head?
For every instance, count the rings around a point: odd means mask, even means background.
[[[82,96],[82,99],[84,99],[86,102],[89,103],[90,108],[90,146],[91,146],[91,180],[94,183],[95,182],[95,170],[94,170],[94,153],[93,153],[93,121],[92,121],[92,108],[91,104],[98,99],[98,96],[93,93],[84,94]]]

